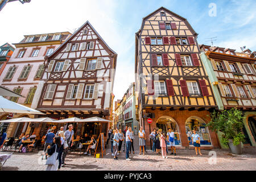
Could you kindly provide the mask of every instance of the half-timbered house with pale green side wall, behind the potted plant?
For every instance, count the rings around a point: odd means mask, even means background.
[[[256,58],[248,50],[235,52],[206,45],[201,45],[200,49],[218,109],[242,110],[246,137],[243,143],[256,146]]]

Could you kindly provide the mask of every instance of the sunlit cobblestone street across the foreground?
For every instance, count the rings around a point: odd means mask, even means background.
[[[118,155],[119,160],[114,160],[111,151],[107,150],[104,158],[93,158],[92,156],[80,156],[68,154],[65,160],[67,165],[61,168],[64,170],[120,170],[120,171],[144,171],[144,170],[256,170],[256,148],[244,147],[243,155],[232,155],[228,150],[215,149],[217,158],[214,164],[213,157],[209,155],[210,150],[201,150],[203,156],[195,155],[195,150],[177,150],[177,155],[168,154],[168,159],[163,159],[162,155],[152,154],[147,150],[145,155],[139,155],[138,144],[135,144],[135,154],[130,154],[131,161],[125,160],[125,152]],[[8,152],[1,152],[8,153]],[[7,160],[2,170],[45,170],[42,164],[42,151],[20,154],[15,152]],[[212,164],[210,164],[212,163]]]

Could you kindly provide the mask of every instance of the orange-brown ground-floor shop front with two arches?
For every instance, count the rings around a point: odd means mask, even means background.
[[[168,132],[170,128],[175,133],[175,145],[177,149],[194,148],[192,145],[192,130],[200,136],[201,148],[212,149],[219,147],[217,135],[214,131],[210,131],[206,126],[210,121],[210,113],[207,110],[189,111],[189,110],[146,110],[147,113],[154,113],[152,123],[147,123],[146,118],[142,118],[141,125],[144,126],[146,136],[155,129],[162,129],[163,133]],[[150,139],[146,137],[146,147],[150,148]]]

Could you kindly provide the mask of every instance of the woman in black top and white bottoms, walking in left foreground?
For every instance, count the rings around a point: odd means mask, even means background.
[[[48,160],[53,160],[53,159],[51,159],[51,156],[54,153],[58,154],[58,152],[60,150],[60,147],[61,147],[61,139],[60,139],[60,137],[54,137],[52,145],[47,147],[47,154],[46,155],[49,155],[48,159],[47,159],[47,162],[48,162]],[[55,154],[55,156],[57,154]],[[58,168],[58,158],[59,158],[59,156],[57,156],[56,162],[54,161],[53,164],[47,164],[46,171],[57,171],[57,168]]]

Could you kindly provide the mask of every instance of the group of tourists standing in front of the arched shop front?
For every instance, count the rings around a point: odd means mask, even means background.
[[[196,155],[198,155],[197,150],[199,151],[199,154],[201,154],[200,151],[200,136],[196,134],[196,131],[192,131],[193,134],[189,135],[189,140],[192,140],[193,146],[195,146]],[[172,129],[168,129],[167,133],[163,133],[162,129],[156,130],[153,129],[153,131],[150,134],[150,139],[152,141],[152,152],[154,154],[159,155],[162,153],[163,159],[167,159],[168,154],[168,146],[170,146],[171,154],[170,155],[177,155],[176,154],[176,148],[175,148],[175,133]],[[146,133],[143,130],[143,127],[140,127],[139,133],[139,155],[142,154],[145,155],[146,152]],[[129,158],[129,154],[131,154],[131,149],[133,150],[134,154],[134,132],[131,130],[131,127],[125,127],[125,130],[117,129],[115,128],[112,130],[109,129],[109,136],[108,141],[110,140],[111,143],[111,152],[114,156],[114,160],[118,160],[119,153],[121,153],[121,149],[123,146],[123,152],[126,150],[126,160],[131,160]]]

